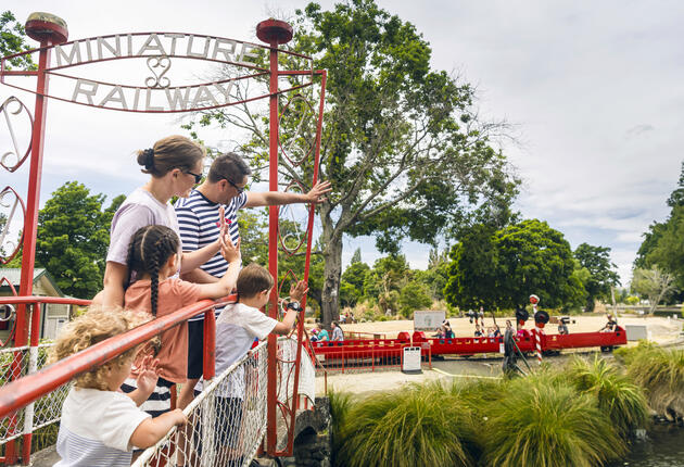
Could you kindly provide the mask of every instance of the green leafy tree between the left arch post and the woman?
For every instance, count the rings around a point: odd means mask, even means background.
[[[110,226],[125,197],[102,210],[105,197],[77,181],[58,188],[38,213],[36,263],[68,295],[89,299],[102,288]]]

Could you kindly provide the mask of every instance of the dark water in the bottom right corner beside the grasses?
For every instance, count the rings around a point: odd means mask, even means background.
[[[610,467],[684,467],[684,428],[655,425],[644,441],[635,441],[628,457]]]

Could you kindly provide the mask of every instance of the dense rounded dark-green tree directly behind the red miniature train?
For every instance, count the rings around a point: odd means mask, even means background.
[[[553,308],[584,298],[570,244],[545,222],[522,220],[496,231],[474,226],[452,249],[451,258],[444,295],[454,306],[514,307],[534,293]]]

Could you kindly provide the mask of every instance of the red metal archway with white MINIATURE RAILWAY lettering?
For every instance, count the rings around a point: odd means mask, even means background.
[[[311,186],[315,185],[318,179],[318,165],[319,165],[319,149],[320,149],[320,135],[322,128],[322,112],[325,103],[325,89],[326,89],[326,71],[315,70],[313,67],[313,59],[309,56],[296,54],[287,50],[279,49],[279,46],[288,42],[292,38],[292,27],[284,22],[276,20],[267,20],[258,24],[257,37],[267,43],[267,46],[250,43],[239,41],[235,39],[227,39],[220,37],[191,35],[191,34],[178,34],[178,33],[135,33],[135,34],[122,34],[112,36],[102,36],[88,39],[81,39],[67,42],[67,28],[66,24],[50,14],[34,13],[29,16],[26,23],[26,33],[29,37],[37,40],[40,47],[27,52],[17,53],[14,55],[5,56],[0,62],[0,83],[5,86],[22,89],[24,91],[31,92],[35,98],[35,112],[33,116],[33,130],[30,137],[30,144],[26,149],[26,152],[16,150],[16,163],[5,165],[4,159],[2,161],[2,167],[9,172],[16,171],[30,154],[29,165],[29,179],[28,179],[28,192],[25,203],[24,213],[24,229],[23,229],[23,242],[21,244],[23,250],[22,273],[20,281],[20,291],[17,300],[16,311],[16,329],[15,329],[15,345],[22,346],[27,343],[35,348],[38,345],[38,329],[40,323],[40,308],[39,306],[33,306],[33,313],[30,314],[30,332],[28,323],[28,308],[30,305],[27,301],[33,294],[33,276],[35,267],[35,253],[36,253],[36,229],[38,220],[39,209],[39,193],[41,186],[41,168],[43,159],[45,147],[45,129],[46,129],[46,115],[48,99],[58,99],[66,102],[73,102],[81,105],[88,105],[99,109],[109,109],[123,112],[141,112],[141,113],[177,113],[177,112],[193,112],[208,109],[224,108],[235,104],[241,104],[249,101],[266,99],[269,101],[269,190],[278,191],[278,164],[279,164],[279,151],[280,148],[280,135],[279,135],[279,122],[282,115],[279,112],[279,98],[287,92],[295,91],[300,88],[315,86],[315,78],[320,79],[320,91],[316,115],[316,130],[315,141],[307,156],[313,156],[309,161],[313,163],[313,178]],[[198,43],[200,47],[198,48]],[[185,45],[185,52],[181,47]],[[203,45],[203,47],[202,47]],[[268,55],[268,67],[259,66],[256,59],[259,53]],[[14,71],[9,70],[9,61],[11,59],[38,54],[37,70],[33,71]],[[308,70],[280,70],[278,58],[279,55],[288,55],[297,59],[303,59],[312,66]],[[165,73],[170,66],[170,60],[175,58],[203,60],[216,63],[223,63],[240,67],[240,70],[248,70],[251,74],[231,77],[223,81],[214,81],[207,84],[198,84],[189,86],[172,87],[170,83],[164,81]],[[148,67],[152,72],[153,76],[145,80],[145,87],[131,86],[123,84],[112,84],[102,80],[93,80],[86,78],[78,78],[73,75],[67,75],[63,71],[65,68],[73,68],[76,66],[88,65],[98,62],[107,62],[122,59],[143,59],[148,62]],[[54,62],[54,63],[53,63]],[[168,66],[164,68],[164,63],[168,63]],[[161,66],[162,70],[155,71]],[[256,77],[269,77],[268,92],[263,96],[255,96],[249,99],[230,100],[229,90],[232,83],[240,79],[250,79]],[[280,77],[309,77],[308,81],[302,83],[296,86],[291,86],[286,89],[279,87]],[[35,89],[29,89],[25,86],[11,81],[13,78],[26,78],[35,77],[37,83]],[[49,91],[49,81],[51,77],[59,77],[62,79],[71,79],[74,81],[74,92],[71,99],[68,96],[51,94]],[[148,81],[149,80],[149,81]],[[99,93],[100,92],[100,93]],[[212,93],[214,92],[214,93]],[[166,96],[168,105],[152,104],[154,97]],[[185,99],[183,99],[185,97]],[[191,98],[192,97],[192,98]],[[223,101],[221,101],[223,99]],[[20,102],[18,100],[16,100]],[[144,102],[144,105],[142,104]],[[20,102],[21,104],[21,102]],[[307,103],[313,110],[315,105]],[[4,104],[3,104],[4,105]],[[23,104],[21,104],[23,106]],[[26,109],[24,106],[24,109]],[[287,109],[287,105],[286,105]],[[1,111],[2,109],[0,109]],[[27,109],[26,109],[27,111]],[[7,115],[5,115],[7,116]],[[30,113],[29,113],[30,117]],[[8,121],[8,125],[9,121]],[[10,128],[11,130],[11,128]],[[14,136],[13,136],[14,139]],[[22,154],[23,153],[23,154]],[[303,163],[305,161],[299,161]],[[299,165],[299,164],[297,164]],[[303,180],[295,180],[297,184],[303,184]],[[308,181],[308,180],[306,180]],[[306,182],[308,185],[308,182]],[[24,202],[21,197],[16,194],[14,190],[8,187],[16,199],[24,206]],[[3,190],[0,198],[8,190]],[[9,191],[8,191],[9,192]],[[16,205],[16,203],[15,203]],[[299,248],[306,244],[306,258],[305,267],[303,272],[303,279],[308,280],[309,273],[309,258],[313,240],[313,225],[314,225],[314,212],[315,206],[308,207],[307,218],[307,231],[306,242],[300,241]],[[279,210],[277,206],[269,207],[269,270],[275,278],[278,278],[278,243],[279,243]],[[8,223],[9,224],[9,223]],[[5,231],[7,232],[7,231]],[[4,235],[3,235],[4,237]],[[282,249],[284,242],[282,242]],[[8,257],[13,256],[18,251],[17,244],[14,252]],[[2,263],[7,261],[7,258]],[[287,280],[287,278],[286,278]],[[26,300],[23,300],[26,299]],[[33,302],[31,302],[33,303]],[[305,307],[305,301],[303,303]],[[302,354],[302,341],[304,335],[304,316],[300,316],[296,333],[299,345],[296,350],[296,363],[294,367],[294,391],[296,391],[299,382],[299,362]],[[274,288],[274,292],[269,305],[269,315],[274,318],[278,317],[278,291]],[[213,325],[213,323],[211,323]],[[28,338],[30,336],[30,342]],[[277,400],[277,355],[276,355],[276,339],[274,336],[268,340],[268,430],[266,438],[266,450],[270,455],[291,455],[292,452],[292,437],[290,436],[288,447],[282,451],[277,451],[277,413],[280,413],[289,418],[288,426],[294,426],[294,417],[297,408],[299,397],[292,397],[291,403],[279,402]],[[295,392],[296,394],[296,392]],[[16,407],[18,408],[18,407]],[[26,443],[30,446],[30,434],[25,438],[24,446],[24,462],[27,462]],[[5,463],[12,463],[16,460],[16,456],[12,454],[13,449],[9,446],[8,455],[5,456]],[[29,453],[30,451],[28,451]]]

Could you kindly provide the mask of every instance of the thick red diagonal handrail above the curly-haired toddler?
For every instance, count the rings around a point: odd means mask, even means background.
[[[211,300],[203,300],[186,306],[3,386],[0,388],[0,417],[7,417],[42,395],[54,391],[76,375],[91,371],[154,336],[206,312],[215,303]]]

